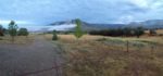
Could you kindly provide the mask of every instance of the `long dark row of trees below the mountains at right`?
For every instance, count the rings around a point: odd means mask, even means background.
[[[137,36],[138,38],[145,34],[145,29],[142,27],[125,27],[125,28],[116,28],[116,29],[104,29],[104,30],[91,30],[89,31],[90,35],[102,35],[102,36]]]

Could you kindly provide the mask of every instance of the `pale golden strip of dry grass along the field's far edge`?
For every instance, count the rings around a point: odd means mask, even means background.
[[[48,40],[51,40],[52,35],[47,34],[45,35],[45,37]],[[76,41],[76,38],[74,35],[58,35],[60,41]],[[80,41],[95,41],[97,39],[101,39],[101,38],[109,38],[109,39],[117,39],[117,40],[142,40],[142,41],[152,41],[152,42],[158,42],[158,43],[163,43],[163,37],[159,37],[159,36],[142,36],[141,38],[137,38],[137,37],[105,37],[105,36],[91,36],[91,35],[84,35],[79,40]]]

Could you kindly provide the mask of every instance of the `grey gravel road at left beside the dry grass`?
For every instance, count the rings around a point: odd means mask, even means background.
[[[62,76],[58,51],[43,37],[28,45],[0,43],[0,76]]]

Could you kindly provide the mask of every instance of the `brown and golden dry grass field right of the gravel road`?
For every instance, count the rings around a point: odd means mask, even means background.
[[[59,42],[66,52],[67,76],[163,76],[163,37],[85,35],[77,40],[73,35],[59,35]]]

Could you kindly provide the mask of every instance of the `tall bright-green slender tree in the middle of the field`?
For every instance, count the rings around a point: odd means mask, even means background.
[[[78,39],[84,35],[82,30],[82,21],[79,18],[75,20],[76,28],[75,28],[75,37]]]

